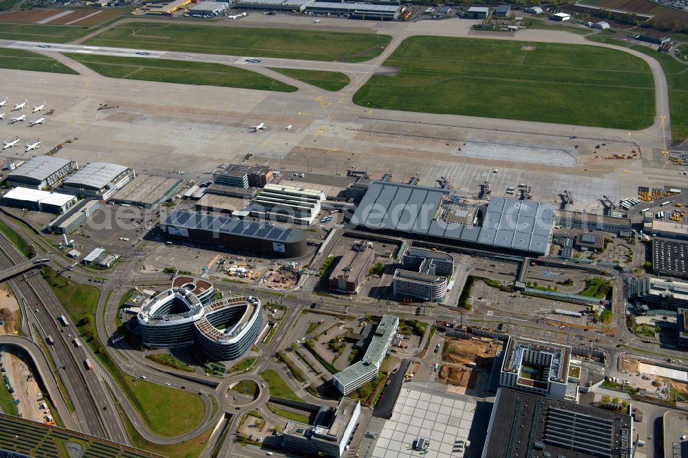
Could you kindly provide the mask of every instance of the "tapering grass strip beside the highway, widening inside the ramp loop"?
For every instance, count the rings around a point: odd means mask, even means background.
[[[108,369],[151,433],[174,437],[189,432],[201,422],[205,406],[200,397],[132,378],[111,360],[96,331],[94,315],[100,297],[98,288],[58,276],[49,267],[43,268],[43,278],[72,318],[83,341]]]

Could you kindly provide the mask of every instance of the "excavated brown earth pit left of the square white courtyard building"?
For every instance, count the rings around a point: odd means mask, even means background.
[[[501,347],[501,343],[492,339],[447,338],[442,348],[438,379],[458,387],[460,394],[477,395],[477,391],[487,389],[495,356]]]

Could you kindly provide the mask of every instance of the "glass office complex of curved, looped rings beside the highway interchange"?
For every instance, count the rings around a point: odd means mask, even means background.
[[[215,301],[213,284],[178,276],[172,287],[142,306],[138,325],[142,342],[151,348],[200,343],[219,360],[234,360],[258,336],[263,314],[255,296]]]

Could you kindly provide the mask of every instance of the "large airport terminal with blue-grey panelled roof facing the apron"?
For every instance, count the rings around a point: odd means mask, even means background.
[[[549,203],[504,197],[473,206],[451,189],[374,181],[351,223],[438,243],[543,255],[550,251],[554,210]]]

